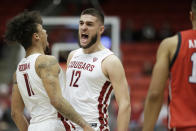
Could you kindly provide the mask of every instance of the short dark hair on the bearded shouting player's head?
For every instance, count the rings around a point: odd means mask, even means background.
[[[81,15],[85,15],[85,14],[97,17],[101,21],[101,23],[104,24],[104,14],[102,11],[97,10],[95,8],[88,8],[83,10],[81,13]]]

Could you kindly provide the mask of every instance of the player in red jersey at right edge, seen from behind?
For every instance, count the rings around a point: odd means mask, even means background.
[[[168,128],[196,131],[196,0],[192,1],[192,29],[164,39],[157,51],[144,108],[143,131],[153,131],[170,78]]]

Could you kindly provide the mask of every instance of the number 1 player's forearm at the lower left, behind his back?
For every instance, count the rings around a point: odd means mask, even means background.
[[[14,120],[17,128],[20,131],[27,131],[29,123],[27,122],[25,116],[23,114],[12,113],[12,119]]]

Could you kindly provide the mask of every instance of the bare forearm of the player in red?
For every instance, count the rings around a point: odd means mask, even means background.
[[[163,97],[148,96],[144,108],[143,131],[153,131],[161,110]]]

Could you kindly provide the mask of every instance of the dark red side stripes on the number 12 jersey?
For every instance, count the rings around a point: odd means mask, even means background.
[[[110,89],[109,89],[109,91],[108,91],[108,93],[106,94],[106,91],[107,91],[107,88],[109,87],[109,85],[110,85],[110,82],[109,81],[106,81],[104,83],[104,85],[102,87],[102,90],[100,92],[99,98],[98,98],[98,102],[99,102],[99,104],[98,104],[98,110],[99,110],[99,122],[100,122],[100,127],[99,128],[100,128],[101,131],[103,130],[104,125],[106,125],[108,123],[107,120],[104,119],[104,114],[107,112],[107,105],[105,107],[106,108],[105,109],[106,111],[103,112],[102,109],[103,109],[103,105],[106,104],[106,102],[107,102],[107,100],[109,98],[109,95],[110,95],[110,93],[112,91],[112,86],[111,86]],[[105,94],[106,94],[106,97],[105,97],[105,100],[104,100],[104,95]],[[103,103],[103,101],[104,101],[104,103]],[[104,120],[105,120],[105,122],[104,122]]]

